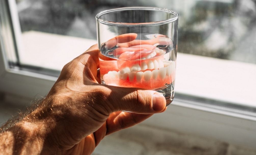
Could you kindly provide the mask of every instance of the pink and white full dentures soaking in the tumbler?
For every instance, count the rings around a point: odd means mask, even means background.
[[[120,47],[110,52],[117,60],[101,60],[105,84],[158,89],[174,82],[175,61],[165,60],[166,51],[154,45]]]

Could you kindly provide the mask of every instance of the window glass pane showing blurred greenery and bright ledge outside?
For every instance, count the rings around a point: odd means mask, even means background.
[[[57,71],[57,76],[67,62],[97,43],[95,15],[100,11],[162,7],[179,13],[180,92],[250,106],[256,100],[254,0],[16,0],[16,5],[22,31],[18,60],[24,69]]]

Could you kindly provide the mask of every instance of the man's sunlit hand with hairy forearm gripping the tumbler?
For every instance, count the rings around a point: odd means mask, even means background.
[[[91,154],[105,135],[165,111],[155,91],[99,84],[98,53],[94,45],[63,67],[40,105],[0,134],[0,152]]]

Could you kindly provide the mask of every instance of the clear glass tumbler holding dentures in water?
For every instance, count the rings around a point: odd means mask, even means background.
[[[96,15],[101,83],[174,98],[178,13],[155,7],[123,7]]]

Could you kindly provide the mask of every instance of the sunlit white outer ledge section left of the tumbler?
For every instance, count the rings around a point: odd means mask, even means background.
[[[21,42],[21,63],[54,70],[61,70],[69,61],[97,44],[97,40],[37,31],[23,33]]]

